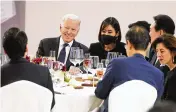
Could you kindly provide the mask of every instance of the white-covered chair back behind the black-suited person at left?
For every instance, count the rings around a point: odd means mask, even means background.
[[[17,81],[0,89],[1,112],[50,112],[52,93],[30,81]]]

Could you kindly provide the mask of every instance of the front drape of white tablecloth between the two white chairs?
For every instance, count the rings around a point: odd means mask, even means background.
[[[95,97],[94,87],[74,89],[71,86],[55,88],[56,104],[53,112],[90,112],[100,105],[102,100]]]

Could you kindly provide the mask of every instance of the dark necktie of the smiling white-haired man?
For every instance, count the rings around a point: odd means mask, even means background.
[[[60,51],[60,54],[59,54],[59,57],[58,57],[58,61],[60,61],[60,62],[62,62],[62,63],[65,62],[65,56],[66,56],[65,47],[67,47],[67,46],[68,46],[67,43],[65,43],[65,44],[63,45],[63,48],[62,48],[62,50]]]

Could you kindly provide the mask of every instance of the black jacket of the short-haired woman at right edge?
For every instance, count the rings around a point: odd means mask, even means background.
[[[176,103],[176,67],[168,72],[165,80],[163,99],[171,100]]]

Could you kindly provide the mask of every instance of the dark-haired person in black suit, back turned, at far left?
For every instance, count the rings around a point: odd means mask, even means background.
[[[5,32],[3,48],[10,58],[9,63],[1,66],[1,86],[19,80],[28,80],[48,88],[53,93],[52,108],[55,104],[53,84],[47,67],[30,63],[24,56],[27,52],[28,38],[18,28],[10,28]],[[13,94],[13,93],[12,93]]]

